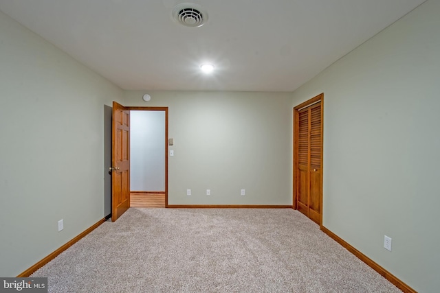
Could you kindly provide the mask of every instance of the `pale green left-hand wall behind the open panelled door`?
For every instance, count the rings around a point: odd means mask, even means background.
[[[17,276],[104,217],[102,106],[122,98],[0,12],[0,276]]]

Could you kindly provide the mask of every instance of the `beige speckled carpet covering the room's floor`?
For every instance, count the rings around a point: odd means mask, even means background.
[[[47,263],[49,292],[401,292],[292,209],[129,209]]]

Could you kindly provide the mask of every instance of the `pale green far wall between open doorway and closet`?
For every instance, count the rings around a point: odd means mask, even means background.
[[[291,94],[144,93],[126,106],[168,106],[168,204],[292,204]]]

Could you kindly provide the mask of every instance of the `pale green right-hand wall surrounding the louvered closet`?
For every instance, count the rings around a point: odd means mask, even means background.
[[[440,288],[439,15],[422,4],[292,104],[325,93],[324,226],[418,292]]]

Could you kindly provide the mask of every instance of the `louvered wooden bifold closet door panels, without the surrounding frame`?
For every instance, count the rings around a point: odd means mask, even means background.
[[[322,191],[321,123],[320,102],[299,111],[297,207],[318,224]]]

